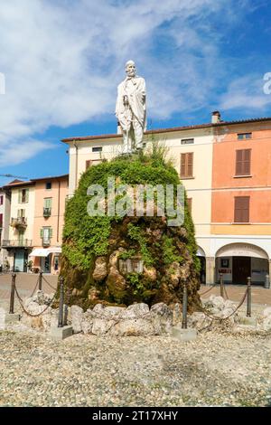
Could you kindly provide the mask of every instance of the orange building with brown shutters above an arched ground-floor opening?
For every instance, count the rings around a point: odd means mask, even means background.
[[[263,284],[271,259],[271,118],[221,122],[212,163],[214,280]],[[211,282],[210,282],[211,283]]]

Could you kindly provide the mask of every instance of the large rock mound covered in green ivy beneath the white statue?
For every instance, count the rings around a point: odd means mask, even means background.
[[[122,184],[181,184],[173,165],[164,159],[164,149],[153,146],[149,153],[118,156],[90,167],[80,178],[79,188],[68,201],[63,231],[61,276],[66,282],[66,302],[86,310],[95,304],[149,306],[182,302],[183,284],[188,305],[199,303],[200,261],[186,195],[184,221],[169,226],[168,216],[90,216],[91,184],[105,188],[113,179]],[[121,196],[117,196],[121,199]],[[100,205],[99,205],[100,206]],[[99,207],[98,206],[98,207]]]

